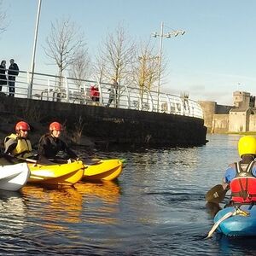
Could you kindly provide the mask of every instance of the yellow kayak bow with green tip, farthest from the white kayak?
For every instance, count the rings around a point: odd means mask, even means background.
[[[99,160],[91,165],[84,165],[84,181],[114,180],[121,174],[123,161],[119,159]]]

